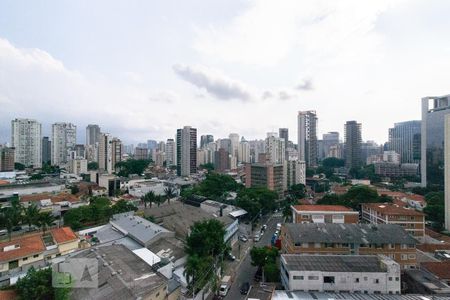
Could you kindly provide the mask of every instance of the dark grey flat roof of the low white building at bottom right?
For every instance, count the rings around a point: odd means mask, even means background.
[[[375,255],[301,255],[283,254],[288,271],[385,272]]]

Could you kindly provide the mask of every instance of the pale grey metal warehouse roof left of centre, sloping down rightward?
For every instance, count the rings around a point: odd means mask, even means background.
[[[160,233],[170,233],[170,231],[155,223],[135,216],[134,212],[113,215],[110,223],[114,228],[132,237],[142,245],[146,245]]]

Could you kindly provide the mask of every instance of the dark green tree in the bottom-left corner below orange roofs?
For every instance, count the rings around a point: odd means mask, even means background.
[[[25,277],[16,283],[19,299],[33,300],[68,300],[70,288],[52,286],[52,268],[36,270],[31,267]]]

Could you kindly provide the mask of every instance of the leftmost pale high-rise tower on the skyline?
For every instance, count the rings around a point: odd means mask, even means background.
[[[41,123],[32,119],[11,121],[11,147],[15,148],[15,162],[26,167],[42,166]]]

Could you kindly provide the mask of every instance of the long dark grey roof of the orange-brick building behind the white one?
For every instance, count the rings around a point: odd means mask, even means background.
[[[416,244],[394,224],[285,224],[294,243]]]

